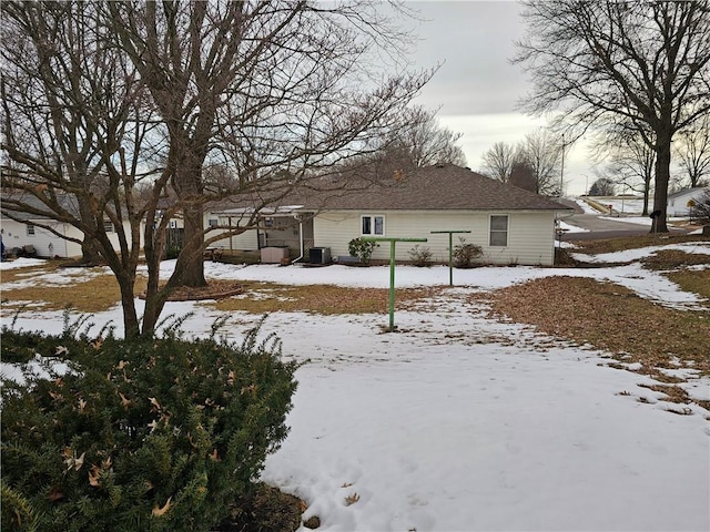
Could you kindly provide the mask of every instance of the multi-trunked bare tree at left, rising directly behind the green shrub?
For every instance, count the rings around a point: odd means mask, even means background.
[[[116,277],[129,338],[141,334],[134,290],[143,236],[152,275],[142,330],[151,336],[166,296],[158,264],[168,218],[159,219],[156,204],[169,176],[151,170],[150,109],[100,10],[2,2],[2,212],[33,215],[34,225],[82,243],[58,225],[77,227]]]

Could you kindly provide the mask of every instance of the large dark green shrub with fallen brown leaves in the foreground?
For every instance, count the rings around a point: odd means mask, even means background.
[[[45,375],[2,387],[2,530],[219,524],[287,433],[295,366],[257,331],[241,346],[32,336]]]

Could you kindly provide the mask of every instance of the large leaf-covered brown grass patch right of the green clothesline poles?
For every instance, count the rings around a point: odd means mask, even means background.
[[[515,285],[496,291],[490,303],[494,313],[514,321],[612,354],[628,354],[649,370],[669,367],[671,358],[678,357],[710,375],[710,313],[663,308],[622,286],[576,277]]]

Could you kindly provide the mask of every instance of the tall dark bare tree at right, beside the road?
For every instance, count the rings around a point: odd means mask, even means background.
[[[655,229],[667,232],[671,144],[710,111],[710,4],[526,2],[514,62],[532,74],[530,112],[559,110],[571,127],[631,123],[656,152]]]

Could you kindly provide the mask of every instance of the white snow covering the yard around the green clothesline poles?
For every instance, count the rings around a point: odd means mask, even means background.
[[[206,268],[210,278],[283,284],[386,287],[389,278],[382,267]],[[456,270],[456,287],[398,310],[393,334],[382,332],[385,314],[274,313],[262,332],[278,334],[284,357],[305,364],[292,431],[263,480],[304,499],[323,531],[710,530],[709,411],[670,412],[662,393],[640,386],[650,377],[612,368],[608,354],[468,303],[548,275],[613,279],[677,308],[700,303],[640,267],[504,267]],[[444,267],[397,268],[397,286],[447,282]],[[209,305],[170,303],[165,314],[191,310],[185,330],[209,332],[219,316]],[[120,324],[120,310],[92,320]],[[257,320],[234,313],[229,331],[239,339]],[[61,313],[33,311],[17,327],[59,332]],[[710,397],[708,378],[683,365],[677,375],[691,397]]]

